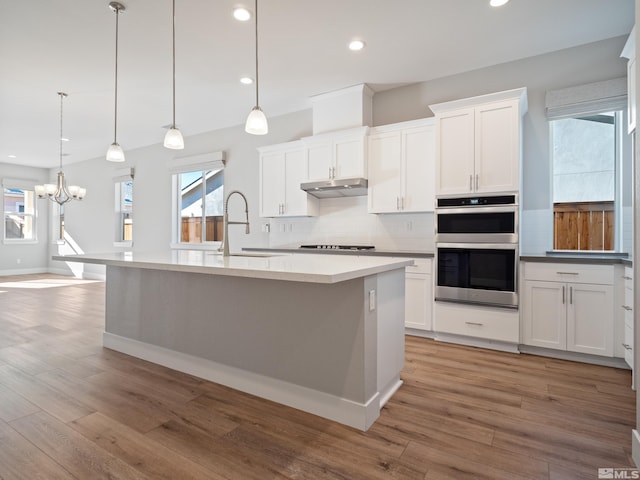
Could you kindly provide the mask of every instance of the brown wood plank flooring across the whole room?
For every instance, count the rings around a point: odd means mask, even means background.
[[[584,480],[633,466],[627,370],[407,337],[404,385],[360,432],[105,349],[103,325],[101,282],[0,277],[0,479]]]

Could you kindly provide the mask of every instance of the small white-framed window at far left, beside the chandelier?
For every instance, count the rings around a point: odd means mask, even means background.
[[[25,180],[2,180],[4,243],[37,241],[35,183]]]

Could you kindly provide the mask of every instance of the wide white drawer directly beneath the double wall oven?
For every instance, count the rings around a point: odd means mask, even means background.
[[[518,343],[520,321],[516,310],[436,302],[434,330]]]

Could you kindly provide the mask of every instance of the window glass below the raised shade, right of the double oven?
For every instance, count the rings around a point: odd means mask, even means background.
[[[622,112],[551,122],[555,250],[615,250]]]

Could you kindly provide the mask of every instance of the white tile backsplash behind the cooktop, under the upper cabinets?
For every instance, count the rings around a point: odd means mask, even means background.
[[[433,213],[367,213],[367,197],[320,200],[318,217],[262,219],[269,246],[374,245],[378,250],[434,251]]]

